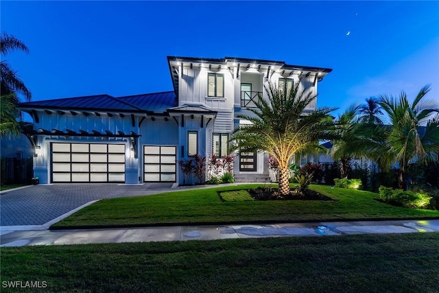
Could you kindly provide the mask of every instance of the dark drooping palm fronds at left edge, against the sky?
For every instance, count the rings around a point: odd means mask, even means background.
[[[0,34],[0,54],[2,59],[6,54],[17,49],[24,51],[25,53],[29,52],[29,49],[27,49],[26,45],[15,36],[11,36],[6,32]],[[27,89],[23,81],[20,80],[20,78],[16,74],[16,71],[14,71],[5,60],[1,60],[0,62],[0,73],[1,95],[8,95],[10,93],[21,93],[25,96],[26,101],[30,101],[32,97],[31,92],[29,91],[29,89]],[[19,102],[17,95],[10,96],[10,98],[14,99],[12,100],[12,102]]]

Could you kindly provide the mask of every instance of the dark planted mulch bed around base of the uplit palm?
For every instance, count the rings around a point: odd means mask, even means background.
[[[295,189],[289,189],[289,195],[285,197],[281,197],[276,188],[258,187],[257,189],[248,189],[248,193],[254,200],[333,200],[329,196],[324,196],[311,189],[302,194],[296,193]]]

